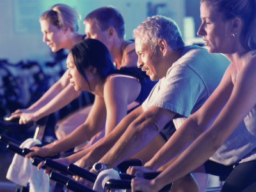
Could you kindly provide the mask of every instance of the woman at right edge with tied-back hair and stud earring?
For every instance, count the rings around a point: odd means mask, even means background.
[[[209,52],[225,54],[230,65],[209,99],[173,134],[178,140],[189,127],[200,136],[181,145],[177,154],[167,142],[145,166],[153,170],[173,162],[156,179],[133,179],[132,191],[158,191],[190,172],[226,175],[221,191],[256,191],[255,10],[255,0],[201,0],[198,35]],[[244,131],[236,129],[241,122]],[[228,146],[232,150],[225,151]],[[207,160],[212,154],[218,162]]]

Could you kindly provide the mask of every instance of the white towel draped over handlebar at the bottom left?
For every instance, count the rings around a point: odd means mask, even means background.
[[[29,138],[20,145],[20,148],[31,148],[36,144],[41,144],[41,141]],[[50,189],[49,176],[44,173],[44,170],[41,169],[38,172],[30,159],[19,154],[14,155],[6,178],[20,186],[27,186],[29,182],[30,192],[47,192]]]

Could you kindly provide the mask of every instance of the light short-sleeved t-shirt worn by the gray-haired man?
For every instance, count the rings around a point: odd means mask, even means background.
[[[154,86],[142,108],[157,106],[188,117],[204,104],[221,81],[230,62],[222,54],[191,45]],[[173,120],[175,123],[175,119]],[[175,128],[178,129],[177,124]]]

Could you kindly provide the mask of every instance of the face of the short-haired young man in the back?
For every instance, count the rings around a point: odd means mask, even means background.
[[[84,21],[84,32],[86,34],[86,38],[97,39],[102,42],[108,50],[110,50],[110,42],[108,38],[108,31],[102,31],[97,25],[95,20],[85,20]]]

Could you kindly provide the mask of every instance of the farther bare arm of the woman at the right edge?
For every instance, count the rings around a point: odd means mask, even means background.
[[[230,72],[225,73],[219,86],[214,90],[205,104],[182,124],[167,143],[148,161],[145,166],[157,170],[185,150],[205,129],[209,128],[220,113],[232,92]]]

